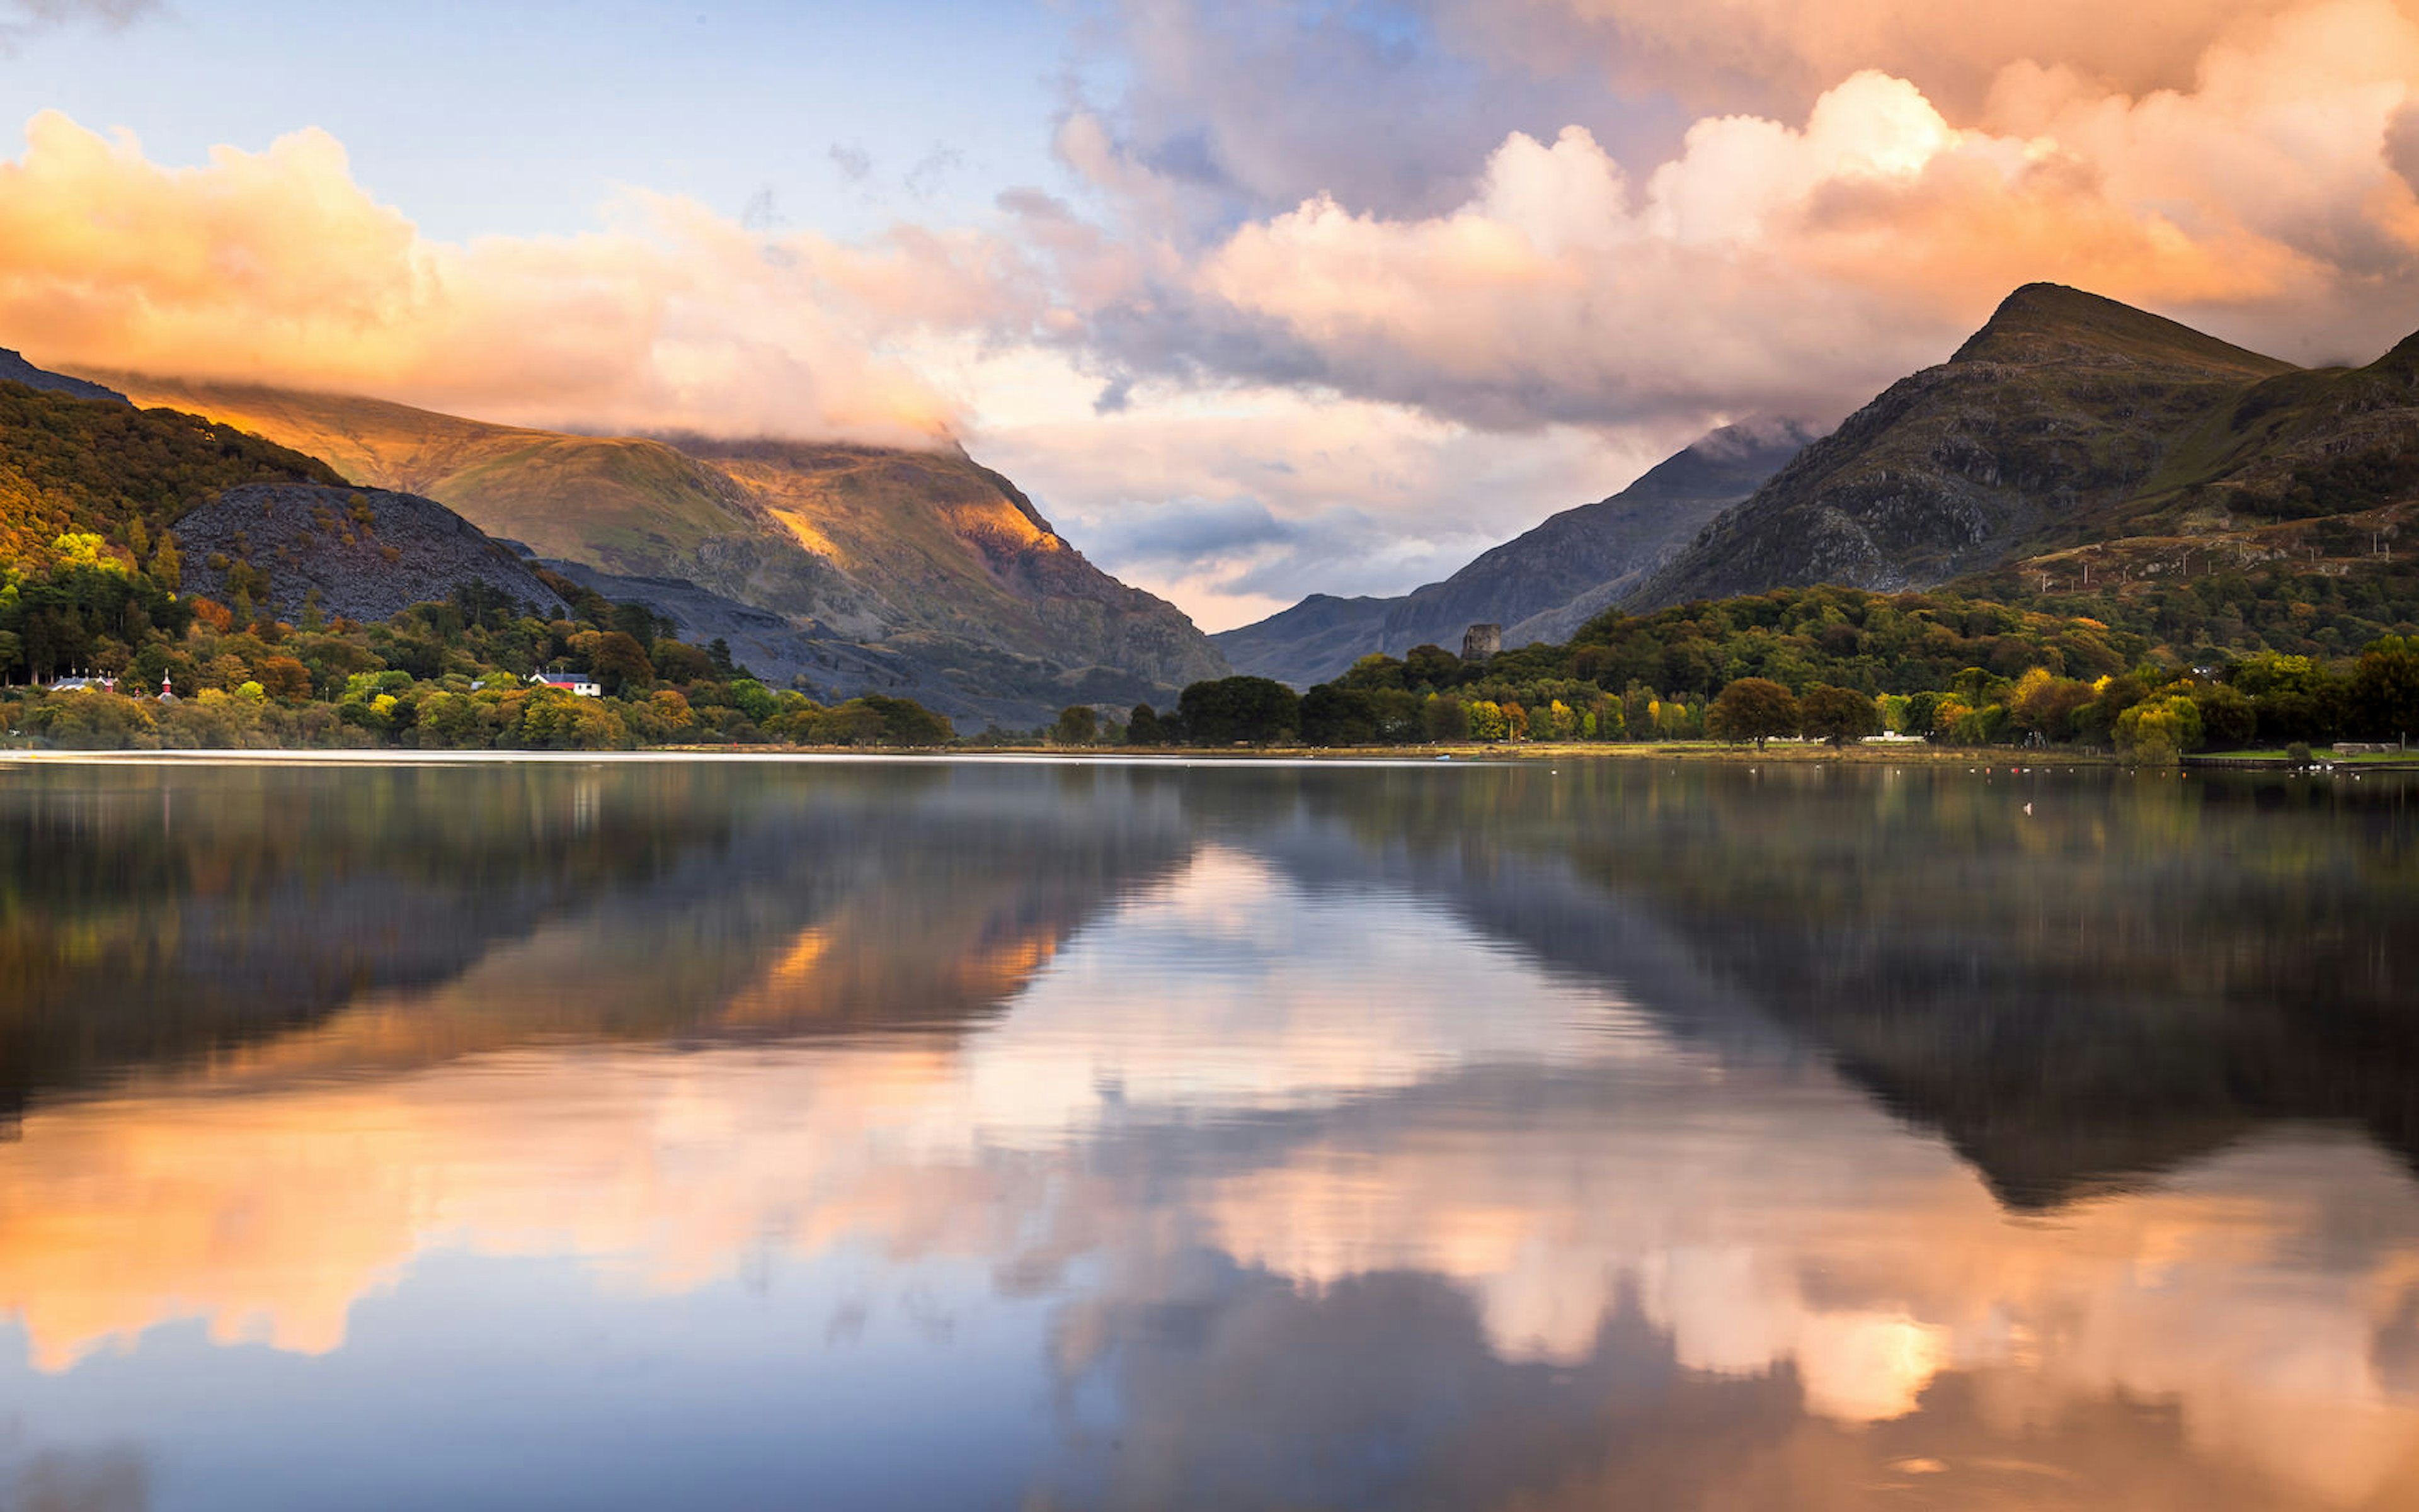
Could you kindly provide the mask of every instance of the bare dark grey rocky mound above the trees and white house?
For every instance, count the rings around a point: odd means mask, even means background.
[[[307,607],[377,624],[481,583],[542,619],[571,617],[520,556],[433,498],[324,484],[247,484],[177,520],[184,588],[235,600],[249,569],[278,619]],[[249,581],[249,578],[247,578]],[[249,588],[244,588],[249,593]]]

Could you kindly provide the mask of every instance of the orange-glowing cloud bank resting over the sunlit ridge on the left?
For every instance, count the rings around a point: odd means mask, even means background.
[[[0,162],[0,329],[60,365],[373,392],[481,419],[929,440],[897,351],[1028,302],[977,232],[750,232],[627,191],[571,237],[423,237],[322,131],[150,162],[56,111]]]

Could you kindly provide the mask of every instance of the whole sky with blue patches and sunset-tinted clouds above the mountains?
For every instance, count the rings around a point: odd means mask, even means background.
[[[0,346],[946,435],[1224,629],[2034,278],[2368,360],[2414,85],[2419,0],[0,0]]]

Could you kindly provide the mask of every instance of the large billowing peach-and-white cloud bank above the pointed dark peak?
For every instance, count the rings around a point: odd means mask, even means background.
[[[2419,201],[2385,150],[2414,80],[2400,7],[2329,0],[2225,29],[2189,92],[2008,63],[1996,126],[1867,68],[1640,167],[1582,126],[1509,133],[1442,213],[1316,194],[1173,264],[1096,256],[1086,276],[1125,283],[1089,339],[1135,373],[1490,428],[1834,419],[2034,278],[2288,358],[2383,348],[2419,322]],[[1176,194],[1081,119],[1062,150],[1113,198]]]

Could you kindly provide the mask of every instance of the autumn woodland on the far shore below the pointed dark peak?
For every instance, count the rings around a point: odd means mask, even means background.
[[[2189,593],[2189,590],[2187,590]],[[2141,619],[2172,605],[2136,602]],[[2317,612],[2286,619],[2305,629]],[[2419,733],[2419,636],[2368,624],[2346,656],[2216,646],[2177,658],[2155,627],[1942,593],[1783,588],[1659,614],[1606,612],[1568,646],[1463,663],[1439,646],[1367,656],[1306,694],[1195,682],[1081,743],[1415,745],[1437,740],[1734,740],[1834,745],[1894,731],[1950,745],[2088,745],[2136,760],[2255,743]],[[2414,629],[2414,627],[2402,627]]]

